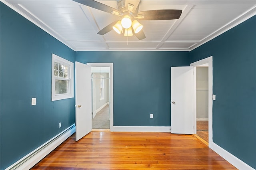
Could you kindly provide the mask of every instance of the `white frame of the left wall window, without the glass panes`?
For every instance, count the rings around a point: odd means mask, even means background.
[[[54,62],[61,63],[68,66],[68,79],[54,77]],[[66,80],[69,82],[67,93],[55,94],[55,80]],[[52,54],[52,101],[69,99],[74,97],[74,63],[59,57],[58,55]]]

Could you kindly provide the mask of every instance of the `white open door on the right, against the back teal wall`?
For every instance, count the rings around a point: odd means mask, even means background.
[[[171,67],[171,128],[194,134],[194,67]]]

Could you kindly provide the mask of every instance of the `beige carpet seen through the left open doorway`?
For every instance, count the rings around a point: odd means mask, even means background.
[[[101,109],[96,116],[92,119],[92,128],[109,129],[110,119],[109,119],[109,105],[106,105]]]

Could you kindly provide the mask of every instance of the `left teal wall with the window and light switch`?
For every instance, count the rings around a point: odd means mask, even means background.
[[[74,99],[51,101],[52,53],[74,62],[74,51],[2,2],[0,23],[2,170],[72,125],[75,117]]]

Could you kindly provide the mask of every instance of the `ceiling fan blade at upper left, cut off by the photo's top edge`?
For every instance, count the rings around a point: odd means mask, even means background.
[[[86,6],[89,6],[89,7],[92,7],[92,8],[95,8],[97,10],[108,12],[110,14],[120,16],[120,13],[121,13],[119,10],[117,10],[115,8],[112,8],[110,6],[107,6],[105,4],[102,4],[102,3],[94,1],[94,0],[73,0],[73,1],[83,4],[83,5],[86,5]]]

